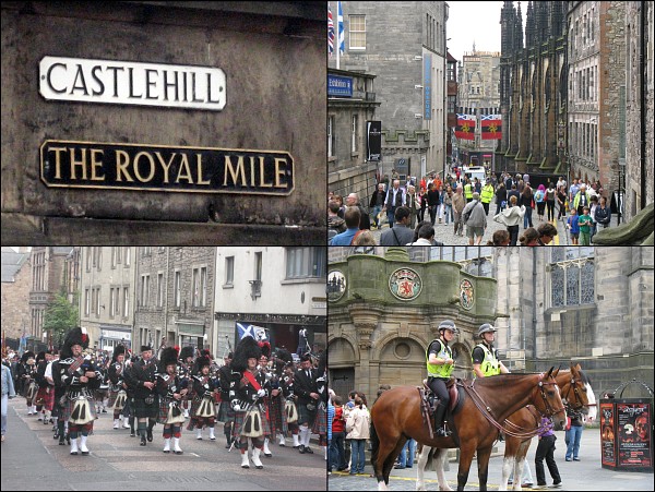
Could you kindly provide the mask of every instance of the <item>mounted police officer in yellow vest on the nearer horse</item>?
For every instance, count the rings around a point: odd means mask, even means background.
[[[439,338],[430,343],[426,352],[428,386],[439,398],[439,405],[434,412],[434,427],[437,428],[434,434],[438,437],[448,437],[450,435],[450,431],[443,425],[443,416],[450,403],[445,382],[450,379],[455,368],[455,362],[453,360],[453,352],[448,344],[455,337],[457,332],[454,321],[444,320],[439,325]]]

